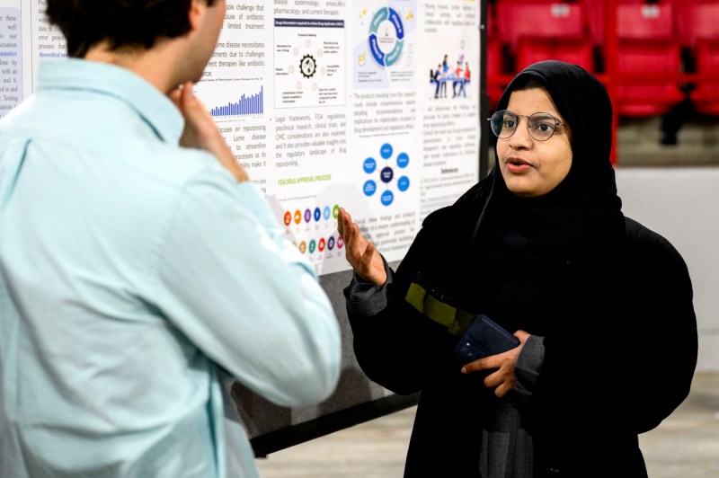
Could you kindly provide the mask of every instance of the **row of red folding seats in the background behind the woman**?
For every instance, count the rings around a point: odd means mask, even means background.
[[[617,0],[615,31],[608,31],[607,8],[601,0],[490,3],[491,102],[502,89],[493,79],[552,58],[617,75],[621,115],[661,114],[686,98],[697,111],[719,115],[719,2]],[[608,58],[608,34],[616,35],[616,58]]]

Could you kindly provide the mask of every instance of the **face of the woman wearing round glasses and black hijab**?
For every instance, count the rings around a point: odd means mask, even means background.
[[[549,113],[564,123],[552,97],[542,88],[512,92],[507,110],[518,115],[519,125],[512,136],[497,139],[502,178],[507,188],[517,196],[543,196],[554,190],[572,167],[569,127],[557,126],[555,134],[546,141],[537,141],[529,136],[525,116],[537,112]]]

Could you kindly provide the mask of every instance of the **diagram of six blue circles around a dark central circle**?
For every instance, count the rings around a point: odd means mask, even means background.
[[[395,201],[395,193],[390,186],[395,183],[395,187],[399,192],[410,189],[410,178],[403,174],[404,169],[410,164],[410,156],[403,152],[395,155],[395,148],[385,143],[379,148],[379,157],[382,163],[378,163],[373,156],[369,156],[362,163],[362,169],[365,173],[376,176],[379,173],[378,181],[368,179],[362,185],[362,192],[367,197],[377,195],[383,206],[390,206]],[[397,172],[395,173],[395,167]],[[377,194],[377,190],[384,185],[384,190]]]

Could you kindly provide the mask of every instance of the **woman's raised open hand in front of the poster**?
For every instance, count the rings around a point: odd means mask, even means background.
[[[340,208],[340,217],[337,219],[337,230],[344,241],[344,255],[352,269],[359,277],[382,286],[387,281],[385,261],[375,249],[375,244],[359,234],[359,226],[352,222],[350,213]]]

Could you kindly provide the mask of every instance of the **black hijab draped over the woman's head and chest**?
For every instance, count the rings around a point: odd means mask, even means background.
[[[543,61],[515,76],[497,110],[506,109],[511,93],[528,82],[544,86],[572,129],[569,173],[544,196],[520,198],[507,189],[495,153],[492,172],[456,204],[464,217],[474,217],[467,233],[477,267],[494,278],[492,313],[510,328],[529,325],[525,317],[546,296],[559,264],[580,259],[584,275],[592,275],[588,288],[596,288],[595,279],[611,277],[624,234],[609,160],[612,107],[606,89],[580,66]]]

